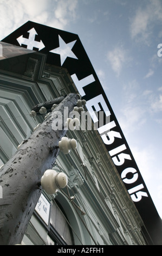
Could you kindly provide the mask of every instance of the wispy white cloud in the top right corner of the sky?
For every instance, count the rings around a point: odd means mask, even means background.
[[[145,8],[138,8],[131,19],[131,37],[136,42],[150,44],[152,28],[157,22],[162,21],[162,5],[159,0],[148,1]]]

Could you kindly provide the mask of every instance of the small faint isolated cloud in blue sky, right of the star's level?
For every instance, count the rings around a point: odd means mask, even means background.
[[[116,75],[119,76],[122,66],[127,61],[127,53],[124,49],[116,47],[114,50],[107,53],[107,59],[111,63],[112,69]]]

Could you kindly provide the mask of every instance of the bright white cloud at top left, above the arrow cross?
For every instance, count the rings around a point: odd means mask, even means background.
[[[77,19],[78,0],[1,0],[0,40],[27,21],[65,29]]]

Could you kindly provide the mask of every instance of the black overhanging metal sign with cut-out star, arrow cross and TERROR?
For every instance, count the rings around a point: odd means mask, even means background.
[[[87,101],[88,111],[144,221],[147,235],[154,244],[162,244],[161,218],[79,36],[29,21],[2,42],[46,53],[48,64],[68,70],[80,95]]]

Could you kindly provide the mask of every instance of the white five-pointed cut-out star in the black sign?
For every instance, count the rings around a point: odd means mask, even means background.
[[[60,54],[61,66],[67,57],[77,59],[75,54],[72,52],[72,48],[75,45],[75,42],[76,42],[76,40],[72,41],[72,42],[68,42],[68,44],[66,44],[66,42],[64,42],[63,39],[61,38],[61,36],[59,35],[59,45],[60,46],[58,48],[51,50],[50,52]]]

